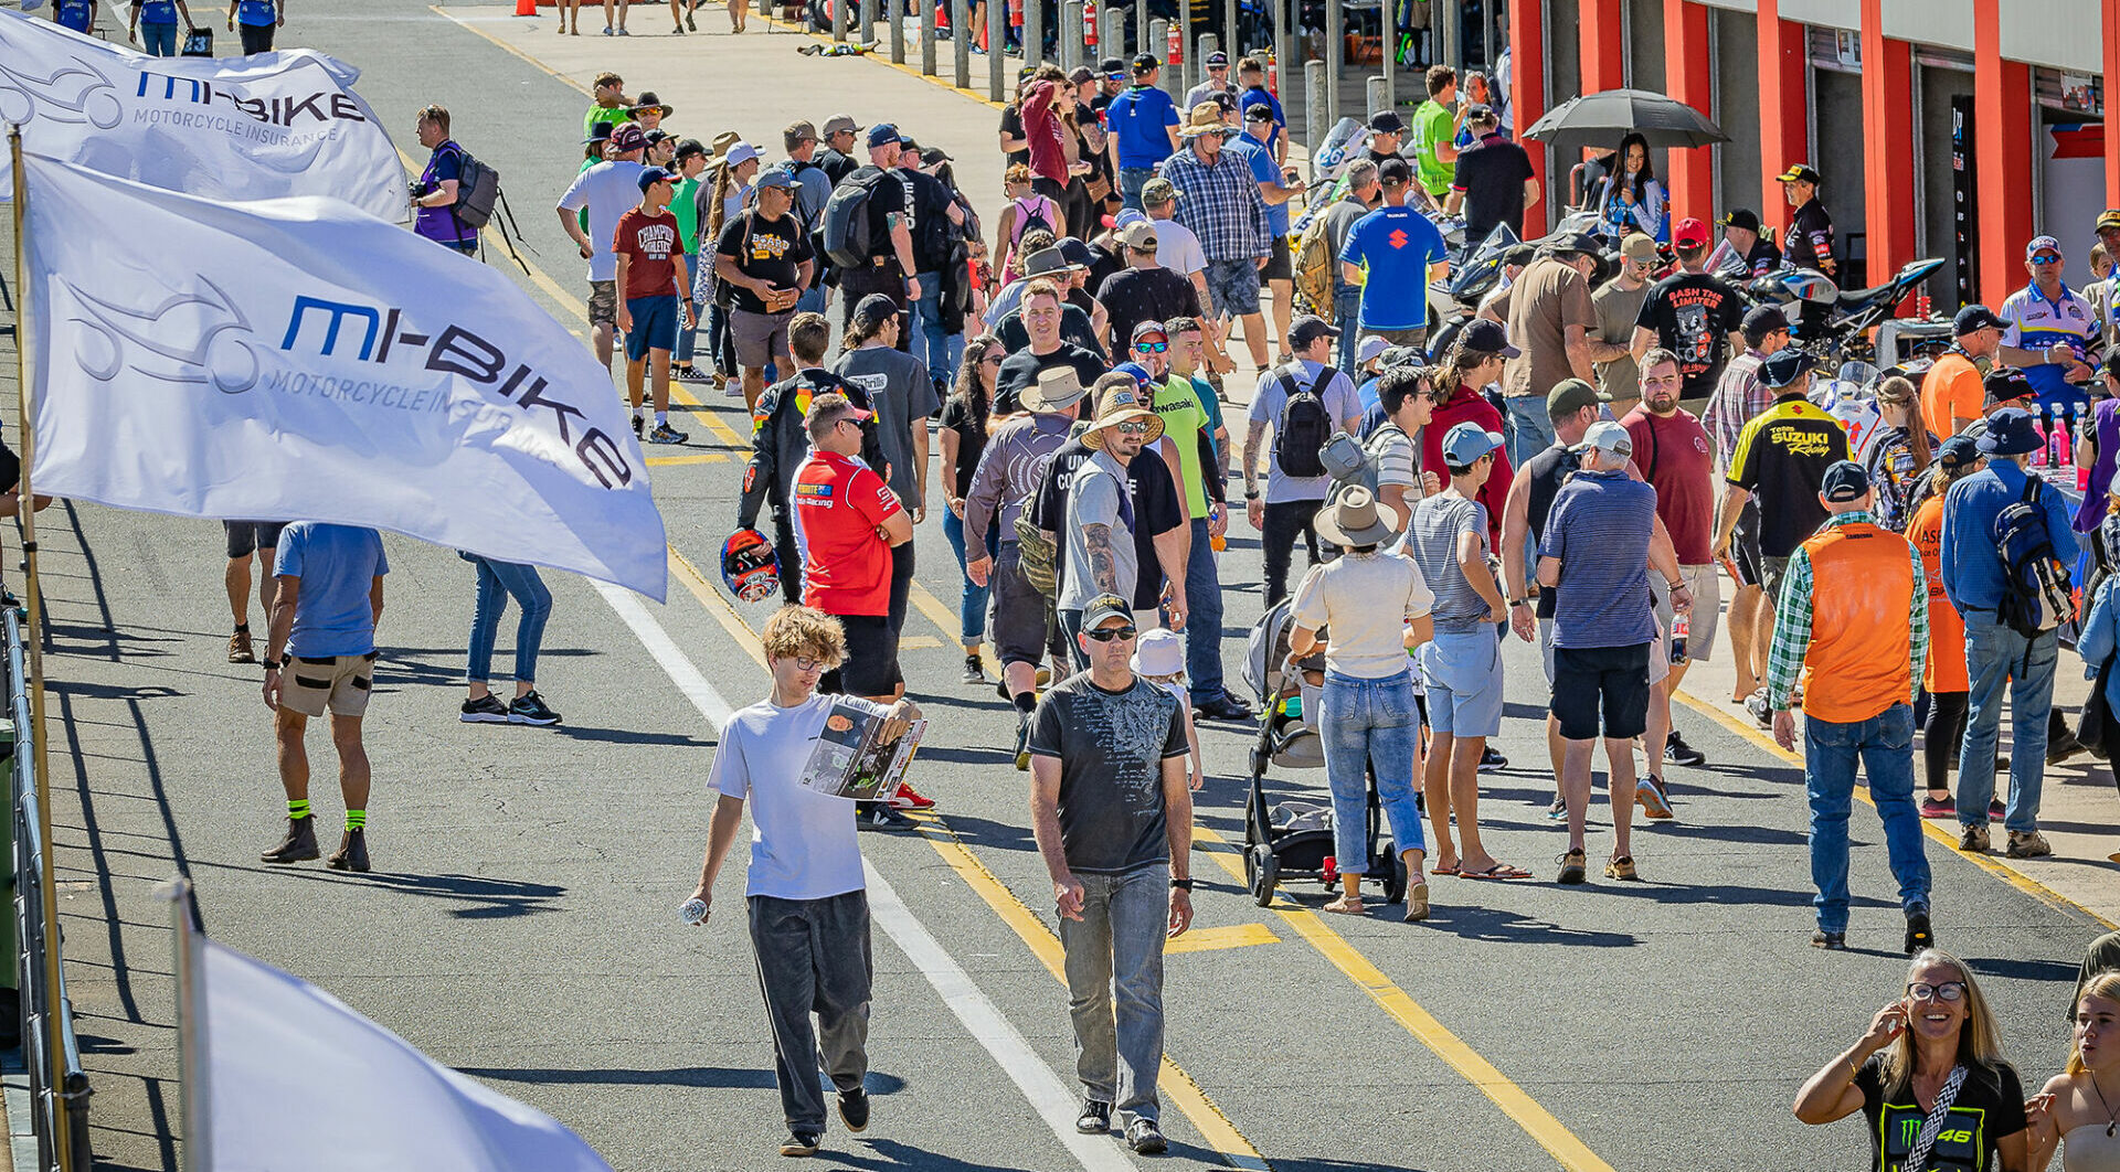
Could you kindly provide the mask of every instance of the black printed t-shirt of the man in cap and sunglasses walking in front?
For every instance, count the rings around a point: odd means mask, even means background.
[[[1141,676],[1126,691],[1068,676],[1039,699],[1030,752],[1060,759],[1068,869],[1126,875],[1170,858],[1162,765],[1187,752],[1174,695]]]

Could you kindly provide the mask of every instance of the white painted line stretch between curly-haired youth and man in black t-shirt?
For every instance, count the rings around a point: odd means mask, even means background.
[[[994,1002],[986,998],[986,992],[979,990],[971,975],[905,909],[890,880],[884,880],[867,858],[861,860],[861,869],[869,880],[869,918],[882,924],[884,933],[899,945],[899,952],[935,985],[950,1013],[956,1013],[956,1019],[971,1030],[971,1036],[986,1047],[986,1053],[994,1055],[994,1062],[1009,1075],[1015,1089],[1024,1091],[1024,1098],[1045,1119],[1045,1125],[1054,1130],[1054,1136],[1068,1149],[1068,1155],[1088,1172],[1134,1172],[1134,1164],[1119,1155],[1119,1144],[1111,1136],[1085,1136],[1075,1130],[1075,1111],[1079,1106],[1075,1091],[1060,1083],[1060,1077],[1045,1066],[1045,1060],[1030,1049],[1030,1043],[1015,1032],[1015,1026],[1009,1026],[1007,1017],[994,1009]],[[1060,1002],[1054,1002],[1054,1013],[1058,1011]]]

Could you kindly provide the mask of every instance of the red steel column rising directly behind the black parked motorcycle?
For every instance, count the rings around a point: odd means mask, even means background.
[[[1885,36],[1883,0],[1861,4],[1863,203],[1870,233],[1868,284],[1914,259],[1914,91],[1912,51]]]

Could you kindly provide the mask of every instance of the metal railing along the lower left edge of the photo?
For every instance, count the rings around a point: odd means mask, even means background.
[[[66,966],[57,924],[45,922],[45,839],[36,795],[34,740],[42,729],[30,712],[30,670],[23,651],[25,615],[4,600],[8,716],[15,721],[15,975],[21,994],[21,1058],[30,1072],[30,1113],[38,1172],[89,1172],[89,1077],[81,1070],[74,1005],[66,996]],[[49,952],[47,952],[49,949]],[[57,973],[51,981],[47,973]],[[57,1087],[53,1081],[57,1079]],[[66,1127],[66,1140],[59,1138]],[[64,1151],[64,1157],[61,1157]]]

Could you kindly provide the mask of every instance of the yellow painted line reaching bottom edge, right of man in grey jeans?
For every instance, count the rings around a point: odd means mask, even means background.
[[[1219,844],[1223,850],[1208,850],[1206,854],[1221,865],[1223,871],[1244,882],[1244,865],[1238,848],[1230,839],[1217,835],[1206,827],[1194,827],[1194,839],[1200,844]],[[1435,1019],[1427,1009],[1420,1009],[1406,990],[1391,983],[1367,956],[1346,943],[1333,928],[1329,928],[1317,911],[1291,903],[1285,894],[1274,896],[1272,911],[1295,930],[1310,947],[1314,947],[1333,969],[1344,973],[1355,981],[1361,992],[1370,994],[1393,1022],[1414,1034],[1414,1038],[1435,1051],[1450,1064],[1452,1070],[1465,1077],[1467,1083],[1480,1089],[1486,1098],[1495,1100],[1518,1127],[1524,1130],[1533,1140],[1539,1142],[1562,1168],[1571,1172],[1613,1172],[1611,1164],[1605,1164],[1588,1144],[1575,1138],[1560,1119],[1554,1119],[1550,1111],[1539,1106],[1531,1094],[1509,1081],[1492,1062],[1480,1055],[1480,1051],[1465,1045],[1463,1038],[1452,1034],[1442,1022]]]

